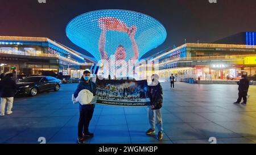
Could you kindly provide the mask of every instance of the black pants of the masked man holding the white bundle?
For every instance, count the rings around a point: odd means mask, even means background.
[[[81,139],[82,133],[84,134],[89,133],[89,124],[90,124],[90,120],[92,120],[94,104],[86,104],[83,106],[79,104],[79,110],[80,110],[80,118],[79,118],[79,124],[78,124],[78,136]]]

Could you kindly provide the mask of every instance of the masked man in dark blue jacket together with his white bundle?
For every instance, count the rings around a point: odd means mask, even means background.
[[[84,143],[85,137],[92,137],[93,133],[89,132],[89,124],[92,119],[94,107],[92,104],[92,96],[94,94],[95,84],[90,80],[90,72],[85,70],[81,81],[77,86],[73,98],[75,102],[79,102],[80,118],[78,124],[78,138],[77,143]]]

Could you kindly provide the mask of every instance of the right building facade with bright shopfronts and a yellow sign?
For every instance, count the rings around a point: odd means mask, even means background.
[[[256,74],[256,47],[233,44],[181,45],[163,53],[154,61],[154,70],[162,78],[239,79]]]

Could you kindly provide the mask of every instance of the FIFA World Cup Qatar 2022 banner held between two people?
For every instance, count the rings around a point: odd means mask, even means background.
[[[113,106],[149,106],[149,89],[146,80],[97,79],[96,99],[98,104]]]

